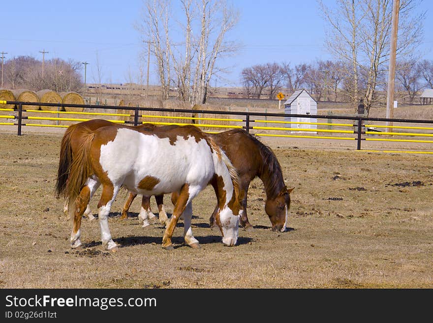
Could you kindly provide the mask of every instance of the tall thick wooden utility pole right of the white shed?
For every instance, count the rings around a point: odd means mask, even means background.
[[[391,44],[389,56],[389,74],[388,74],[388,93],[386,98],[386,117],[394,117],[394,88],[396,78],[396,50],[397,50],[397,33],[399,30],[399,9],[400,0],[393,0],[392,26],[391,26]],[[387,132],[392,132],[392,121],[387,121]]]

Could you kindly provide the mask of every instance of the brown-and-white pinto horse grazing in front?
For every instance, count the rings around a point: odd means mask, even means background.
[[[179,217],[184,217],[185,242],[198,247],[191,231],[192,199],[208,184],[217,197],[216,223],[222,242],[235,245],[238,238],[239,186],[236,171],[214,140],[195,126],[174,127],[161,131],[110,125],[78,130],[78,151],[63,138],[56,192],[63,192],[73,218],[71,246],[81,245],[81,217],[91,198],[92,187],[102,184],[98,218],[102,244],[117,249],[108,228],[108,214],[121,187],[145,196],[179,192],[173,216],[162,238],[165,249],[173,249],[171,237]],[[64,144],[64,146],[63,146]],[[70,157],[74,158],[62,158]],[[64,163],[65,164],[62,164]],[[68,162],[70,164],[68,164]],[[62,191],[61,188],[64,187]]]

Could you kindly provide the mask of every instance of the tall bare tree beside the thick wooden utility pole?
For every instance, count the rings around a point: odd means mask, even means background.
[[[423,37],[425,14],[414,14],[419,2],[400,2],[399,57],[413,53]],[[337,9],[333,11],[320,1],[325,21],[330,27],[327,45],[336,57],[351,64],[351,92],[348,95],[353,99],[354,107],[360,96],[360,73],[366,76],[363,98],[368,114],[376,97],[378,80],[388,68],[392,0],[337,0],[337,4]]]

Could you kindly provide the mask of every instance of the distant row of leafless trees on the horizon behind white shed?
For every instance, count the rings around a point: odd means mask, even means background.
[[[405,101],[414,102],[416,94],[423,88],[433,88],[433,60],[415,59],[398,61],[396,90],[403,93]],[[385,91],[384,74],[377,78],[378,90]],[[345,101],[353,99],[353,78],[350,64],[343,61],[317,60],[314,63],[298,64],[267,63],[244,68],[241,83],[248,98],[261,98],[266,93],[275,99],[279,91],[287,94],[305,88],[318,101]],[[366,93],[368,75],[358,73],[358,92]]]

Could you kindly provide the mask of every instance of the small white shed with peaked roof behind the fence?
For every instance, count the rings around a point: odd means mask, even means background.
[[[292,115],[317,115],[317,102],[305,89],[296,90],[284,102],[284,112]],[[285,121],[317,122],[317,119],[310,117],[285,117]],[[289,123],[287,126],[290,128],[317,129],[317,124]]]

